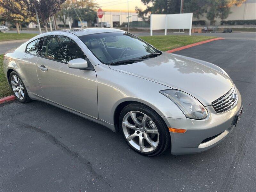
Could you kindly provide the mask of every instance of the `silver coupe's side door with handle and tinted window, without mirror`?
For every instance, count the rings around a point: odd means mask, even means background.
[[[77,112],[98,118],[97,77],[94,70],[68,68],[68,61],[85,59],[67,36],[46,36],[36,71],[45,98]]]

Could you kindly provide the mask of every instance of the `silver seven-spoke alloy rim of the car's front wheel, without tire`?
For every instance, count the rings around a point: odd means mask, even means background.
[[[151,152],[159,143],[156,124],[140,111],[125,114],[122,122],[125,139],[140,152]]]

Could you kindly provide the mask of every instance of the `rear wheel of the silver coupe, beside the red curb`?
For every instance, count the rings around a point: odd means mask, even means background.
[[[31,99],[28,96],[26,87],[24,86],[24,83],[22,82],[20,76],[15,71],[11,72],[9,76],[9,82],[10,82],[10,86],[12,88],[13,94],[18,101],[20,101],[21,103],[27,103],[31,101]]]

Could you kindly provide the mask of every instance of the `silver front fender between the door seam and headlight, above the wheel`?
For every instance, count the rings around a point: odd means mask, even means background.
[[[94,66],[97,73],[99,118],[114,124],[117,106],[125,101],[136,101],[154,109],[160,116],[186,117],[172,100],[159,91],[170,89],[137,76],[110,69],[108,65]]]

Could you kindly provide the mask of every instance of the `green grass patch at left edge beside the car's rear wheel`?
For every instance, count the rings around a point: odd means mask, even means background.
[[[3,61],[4,55],[0,55],[0,99],[12,95],[10,85],[8,84],[7,79],[4,75]]]

